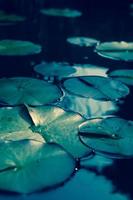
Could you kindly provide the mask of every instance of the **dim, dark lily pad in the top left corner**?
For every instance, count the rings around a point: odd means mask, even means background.
[[[23,22],[25,19],[26,18],[24,16],[8,14],[5,11],[0,10],[0,25],[9,25],[17,22]]]

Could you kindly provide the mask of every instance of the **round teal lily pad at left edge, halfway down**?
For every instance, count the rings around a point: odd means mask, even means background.
[[[0,102],[8,105],[43,105],[62,96],[60,89],[42,80],[26,77],[0,79]]]

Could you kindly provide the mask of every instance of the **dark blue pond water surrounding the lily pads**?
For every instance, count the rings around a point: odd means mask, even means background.
[[[18,3],[19,2],[19,3]],[[133,41],[133,16],[129,0],[25,0],[0,1],[0,9],[27,17],[26,22],[14,26],[0,26],[0,40],[20,39],[39,43],[39,55],[25,57],[0,57],[0,77],[35,76],[33,65],[42,61],[66,61],[71,64],[96,64],[109,69],[133,68],[133,62],[112,61],[102,58],[92,48],[78,47],[66,42],[70,36],[87,36],[102,41]],[[77,9],[79,18],[66,19],[44,16],[43,7]],[[132,88],[118,115],[133,120]],[[110,160],[112,162],[112,160]],[[133,200],[133,159],[114,160],[107,165],[103,160],[89,170],[81,169],[64,186],[49,192],[29,196],[0,193],[3,199],[29,200]],[[104,166],[105,165],[105,166]],[[107,166],[106,166],[107,165]],[[87,168],[87,167],[86,167]]]

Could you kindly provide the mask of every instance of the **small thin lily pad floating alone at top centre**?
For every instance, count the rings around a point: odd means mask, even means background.
[[[47,8],[41,9],[40,12],[44,15],[54,16],[54,17],[80,17],[82,13],[78,10],[71,10],[69,8],[60,9],[60,8]]]

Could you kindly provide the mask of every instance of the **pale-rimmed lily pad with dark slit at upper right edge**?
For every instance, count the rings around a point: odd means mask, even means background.
[[[96,52],[113,60],[132,61],[133,42],[103,42],[96,46]]]

